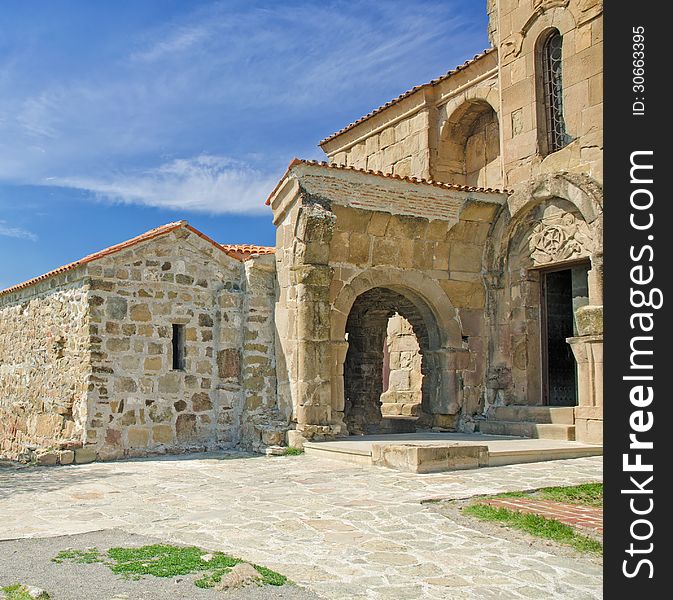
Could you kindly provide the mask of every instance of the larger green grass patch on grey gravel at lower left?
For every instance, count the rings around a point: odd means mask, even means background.
[[[202,573],[194,581],[200,588],[210,588],[218,584],[233,566],[243,562],[223,552],[210,553],[210,560],[203,560],[204,550],[195,546],[172,546],[154,544],[138,548],[110,548],[107,559],[101,557],[98,550],[64,550],[52,560],[62,563],[66,560],[75,563],[102,562],[109,569],[127,579],[140,579],[144,575],[154,577],[175,577],[191,573]],[[260,585],[283,585],[287,578],[266,567],[253,565],[260,574]],[[17,599],[19,600],[19,599]]]

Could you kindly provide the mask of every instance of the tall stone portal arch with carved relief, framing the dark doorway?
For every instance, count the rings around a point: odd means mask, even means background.
[[[489,404],[542,403],[541,271],[590,261],[588,300],[602,304],[602,196],[584,175],[533,180],[512,194],[489,235]]]

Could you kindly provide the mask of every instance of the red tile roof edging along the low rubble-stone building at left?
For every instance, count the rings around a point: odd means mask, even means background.
[[[145,233],[142,233],[142,234],[140,234],[140,235],[138,235],[134,238],[131,238],[130,240],[126,240],[125,242],[121,242],[120,244],[115,244],[114,246],[110,246],[109,248],[105,248],[104,250],[100,250],[98,252],[94,252],[93,254],[89,254],[88,256],[85,256],[84,258],[80,258],[79,260],[76,260],[75,262],[71,262],[67,265],[63,265],[62,267],[58,267],[57,269],[54,269],[53,271],[49,271],[48,273],[45,273],[44,275],[39,275],[38,277],[33,277],[32,279],[29,279],[28,281],[24,281],[23,283],[19,283],[17,285],[13,285],[12,287],[9,287],[7,289],[0,290],[0,296],[6,296],[7,294],[11,294],[12,292],[16,292],[18,290],[22,290],[24,288],[30,287],[31,285],[35,285],[36,283],[44,281],[45,279],[49,279],[50,277],[53,277],[55,275],[60,275],[61,273],[66,273],[67,271],[72,271],[72,270],[76,269],[77,267],[81,267],[82,265],[86,265],[86,264],[88,264],[90,262],[93,262],[95,260],[98,260],[100,258],[104,258],[106,256],[110,256],[111,254],[121,252],[122,250],[126,250],[127,248],[131,248],[132,246],[135,246],[136,244],[140,244],[141,242],[146,242],[146,241],[154,239],[156,237],[166,235],[167,233],[170,233],[171,231],[175,231],[176,229],[179,229],[180,227],[185,227],[186,229],[189,229],[189,231],[198,235],[200,238],[206,240],[207,242],[211,243],[213,246],[222,250],[227,255],[229,255],[232,258],[235,258],[237,260],[240,260],[240,261],[247,260],[248,258],[250,258],[250,256],[253,253],[255,253],[255,254],[270,254],[272,251],[275,252],[275,248],[269,248],[267,246],[253,246],[253,245],[247,245],[247,244],[246,245],[232,246],[232,245],[218,244],[215,240],[208,237],[205,233],[202,233],[198,229],[195,229],[194,227],[192,227],[189,223],[187,223],[187,221],[175,221],[173,223],[167,223],[166,225],[162,225],[161,227],[156,227],[155,229],[150,229],[150,231],[146,231]],[[244,250],[244,248],[250,249],[250,250]]]

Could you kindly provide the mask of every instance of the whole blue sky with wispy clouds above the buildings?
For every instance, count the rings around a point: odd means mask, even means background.
[[[0,289],[158,225],[274,243],[294,156],[488,47],[485,1],[0,11]]]

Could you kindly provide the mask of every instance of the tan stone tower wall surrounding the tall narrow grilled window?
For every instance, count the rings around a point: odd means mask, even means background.
[[[603,3],[527,0],[499,5],[505,185],[568,171],[603,179]],[[563,36],[563,116],[572,141],[544,152],[545,118],[538,47],[547,31]]]

